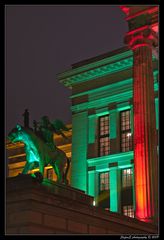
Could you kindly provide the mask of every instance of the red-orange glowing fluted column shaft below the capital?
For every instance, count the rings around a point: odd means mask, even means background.
[[[146,46],[146,47],[145,47]],[[140,49],[136,49],[140,47]],[[141,48],[142,47],[142,48]],[[133,50],[134,56],[134,168],[135,168],[135,192],[136,192],[136,217],[148,222],[154,216],[154,205],[151,196],[150,183],[150,151],[149,151],[149,133],[147,116],[147,81],[148,67],[151,69],[151,63],[148,64],[149,53],[147,44],[137,44]],[[140,51],[140,53],[139,53]],[[150,51],[150,52],[149,52]],[[138,53],[143,61],[139,64]],[[136,55],[135,55],[136,54]],[[147,58],[145,57],[147,55]],[[145,70],[146,69],[146,70]],[[150,75],[151,76],[151,75]],[[151,78],[151,77],[150,77]],[[152,79],[149,79],[151,81]]]

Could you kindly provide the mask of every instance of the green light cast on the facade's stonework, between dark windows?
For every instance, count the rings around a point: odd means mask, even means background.
[[[153,61],[156,62],[154,57]],[[80,87],[80,83],[92,84],[93,82],[93,85],[87,87],[86,91],[79,93],[79,91],[76,92],[76,88],[73,89],[73,93],[75,94],[70,97],[74,99],[76,97],[88,95],[88,101],[71,107],[73,112],[71,184],[73,187],[86,191],[96,200],[99,185],[96,173],[103,172],[104,170],[110,171],[110,210],[113,212],[119,211],[119,188],[121,184],[119,179],[120,169],[133,166],[131,160],[134,159],[134,152],[120,152],[108,156],[87,159],[87,148],[88,144],[94,144],[96,142],[97,118],[104,114],[110,115],[110,139],[116,139],[117,137],[119,138],[119,136],[117,136],[118,111],[131,109],[131,128],[133,133],[133,103],[130,102],[133,100],[133,78],[132,76],[128,78],[126,74],[124,78],[123,75],[123,71],[127,69],[132,70],[132,66],[133,52],[130,50],[115,54],[111,57],[105,57],[100,61],[73,68],[58,75],[60,82],[63,82],[65,86],[69,87],[74,87],[75,85]],[[117,75],[117,73],[119,74]],[[120,81],[114,82],[113,78],[117,76]],[[103,78],[101,79],[101,77]],[[155,69],[155,91],[158,91],[159,88],[157,77],[158,71]],[[103,80],[103,84],[105,82],[104,80],[107,79],[107,85],[103,86],[102,84],[100,87],[94,85],[94,80],[98,78],[100,81]],[[96,80],[96,83],[97,82]],[[93,89],[91,86],[93,86]],[[111,109],[110,105],[112,106]],[[158,129],[158,99],[155,99],[155,107],[156,128]],[[92,115],[87,116],[89,109],[94,109],[95,111],[93,111]],[[112,164],[115,163],[118,165],[117,168],[111,167]],[[92,169],[95,170],[88,171],[87,173],[88,167],[93,167]],[[135,204],[134,183],[133,199],[133,204]]]

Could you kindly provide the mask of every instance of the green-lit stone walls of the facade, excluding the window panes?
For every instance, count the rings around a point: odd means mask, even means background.
[[[133,134],[133,52],[127,48],[122,48],[116,53],[113,52],[105,57],[102,56],[102,59],[99,56],[98,61],[94,60],[83,61],[81,64],[75,65],[72,70],[59,75],[59,80],[72,88],[73,147],[71,184],[94,196],[98,205],[101,200],[101,198],[99,199],[99,174],[103,171],[109,171],[110,211],[122,213],[121,170],[124,168],[134,169],[134,161],[132,161],[134,154],[133,150],[121,152],[119,115],[121,111],[131,110],[131,134]],[[151,61],[154,75],[154,91],[157,93],[157,59],[153,56]],[[109,72],[109,68],[107,66],[102,67],[102,64],[109,64],[111,68],[117,66],[117,71]],[[124,64],[127,64],[127,67]],[[85,78],[80,77],[83,72],[93,70],[97,72],[97,76],[92,75],[92,78],[91,76],[88,77],[89,75],[86,75]],[[76,78],[73,77],[74,74]],[[157,95],[155,99],[157,99]],[[155,101],[158,121],[158,100]],[[98,119],[105,114],[110,115],[111,151],[108,156],[100,157],[98,155]],[[113,163],[117,163],[114,168]],[[132,188],[135,210],[134,178]]]

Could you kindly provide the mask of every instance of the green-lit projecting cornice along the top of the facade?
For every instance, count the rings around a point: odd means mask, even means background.
[[[155,57],[153,56],[154,60]],[[132,66],[133,52],[128,50],[124,53],[60,73],[57,75],[57,78],[66,87],[72,88],[76,84],[127,70]]]

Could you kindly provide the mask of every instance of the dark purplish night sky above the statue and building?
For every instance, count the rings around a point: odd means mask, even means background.
[[[124,46],[124,13],[111,5],[10,5],[5,9],[6,131],[43,115],[71,123],[71,90],[56,75]]]

